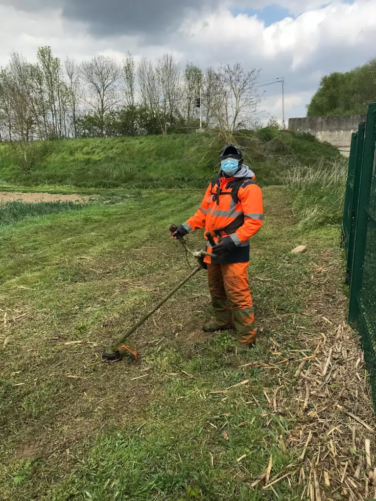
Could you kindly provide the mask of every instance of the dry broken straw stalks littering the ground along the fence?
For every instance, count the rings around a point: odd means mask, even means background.
[[[301,312],[310,319],[300,339],[307,350],[273,364],[252,364],[278,374],[281,382],[268,398],[270,409],[296,419],[281,446],[298,459],[270,481],[299,485],[301,499],[310,501],[376,498],[375,415],[359,338],[345,322],[341,266],[332,250],[311,264],[307,287],[312,293]],[[265,488],[266,474],[253,485]]]

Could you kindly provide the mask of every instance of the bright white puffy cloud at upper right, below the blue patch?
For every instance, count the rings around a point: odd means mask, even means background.
[[[217,60],[226,61],[232,54],[252,61],[276,60],[287,55],[288,69],[296,70],[305,66],[319,50],[330,52],[341,47],[346,58],[345,51],[366,42],[367,37],[369,43],[373,42],[376,2],[358,0],[353,5],[336,2],[267,28],[256,17],[245,14],[234,17],[229,10],[222,9],[205,19],[205,27],[202,20],[186,21],[181,34],[184,39],[190,39],[191,52],[192,45],[198,52],[203,48],[202,58],[208,51]]]

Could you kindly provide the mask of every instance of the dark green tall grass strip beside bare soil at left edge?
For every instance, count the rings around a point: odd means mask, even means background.
[[[0,204],[0,228],[23,219],[58,214],[68,210],[80,210],[83,207],[83,204],[74,202],[7,202]]]

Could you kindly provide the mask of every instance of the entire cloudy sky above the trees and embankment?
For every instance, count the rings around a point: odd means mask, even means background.
[[[322,76],[376,56],[376,0],[0,0],[0,66],[45,45],[62,59],[241,62],[260,84],[284,77],[287,122],[305,116]],[[263,119],[281,121],[281,84],[263,90]]]

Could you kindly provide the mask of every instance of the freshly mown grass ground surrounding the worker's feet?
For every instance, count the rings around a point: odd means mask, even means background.
[[[244,367],[306,349],[300,329],[316,331],[305,314],[312,264],[328,249],[340,259],[338,228],[299,225],[287,188],[264,190],[265,227],[252,242],[254,350],[237,357],[226,352],[232,333],[199,333],[212,312],[202,272],[138,330],[138,364],[101,362],[105,346],[189,273],[167,228],[201,195],[140,192],[0,229],[1,499],[300,498],[287,481],[251,487],[271,454],[271,478],[297,461],[281,445],[296,416],[287,404],[274,413],[264,391],[283,386],[298,362],[283,377]],[[190,241],[203,244],[200,234]],[[291,255],[301,243],[309,252]]]

